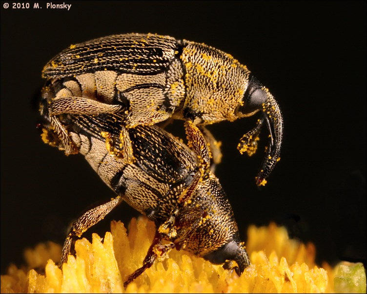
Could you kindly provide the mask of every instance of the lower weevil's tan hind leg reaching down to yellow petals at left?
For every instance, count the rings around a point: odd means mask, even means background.
[[[116,206],[118,206],[123,201],[121,196],[112,198],[107,203],[99,205],[85,212],[81,217],[79,217],[71,226],[71,229],[65,239],[64,245],[62,247],[62,255],[59,267],[62,267],[67,261],[67,256],[70,253],[71,244],[75,237],[81,237],[82,233],[88,230],[90,227],[101,221],[108,213],[111,212]]]

